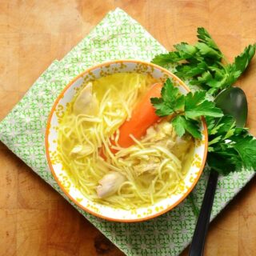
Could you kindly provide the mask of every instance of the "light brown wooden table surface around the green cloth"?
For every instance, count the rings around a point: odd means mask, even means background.
[[[205,26],[230,60],[256,42],[256,1],[0,0],[0,119],[42,71],[62,58],[105,14],[121,7],[167,49],[196,40]],[[256,134],[256,58],[238,82]],[[0,255],[123,255],[0,143]],[[209,255],[256,255],[256,179],[212,223]],[[184,252],[182,255],[186,255]]]

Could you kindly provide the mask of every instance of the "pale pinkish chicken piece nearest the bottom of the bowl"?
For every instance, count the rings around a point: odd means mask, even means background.
[[[118,188],[126,181],[126,178],[118,172],[106,174],[98,183],[97,194],[99,198],[106,198],[118,191]]]

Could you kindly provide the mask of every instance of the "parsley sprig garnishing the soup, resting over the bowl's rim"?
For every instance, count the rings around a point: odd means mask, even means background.
[[[160,117],[172,115],[171,121],[178,136],[185,132],[194,138],[201,138],[199,118],[202,116],[220,118],[222,110],[214,102],[206,100],[205,91],[183,95],[168,78],[162,87],[161,98],[151,98],[151,103]]]

